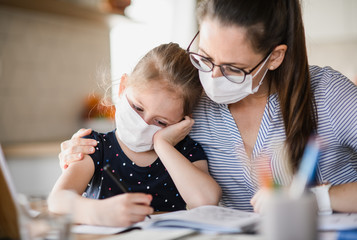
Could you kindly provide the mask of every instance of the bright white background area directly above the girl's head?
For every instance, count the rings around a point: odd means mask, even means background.
[[[112,78],[130,74],[146,52],[162,43],[187,48],[197,31],[195,8],[194,0],[133,0],[125,10],[127,17],[112,22]]]

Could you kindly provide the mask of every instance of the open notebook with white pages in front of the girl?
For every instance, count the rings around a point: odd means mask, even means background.
[[[201,206],[192,210],[151,215],[151,219],[128,228],[78,225],[72,228],[75,233],[115,234],[133,229],[191,229],[204,233],[254,232],[261,218],[257,213],[219,207]]]

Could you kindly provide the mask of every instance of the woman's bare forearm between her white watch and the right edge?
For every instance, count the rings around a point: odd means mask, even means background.
[[[337,212],[357,212],[357,182],[331,186],[331,208]]]

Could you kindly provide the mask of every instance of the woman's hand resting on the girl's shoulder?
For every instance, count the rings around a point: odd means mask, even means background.
[[[80,161],[85,154],[91,154],[95,151],[94,146],[97,141],[94,139],[82,138],[89,135],[92,129],[80,129],[73,134],[72,138],[61,143],[61,152],[58,154],[60,167],[65,170],[72,162]]]

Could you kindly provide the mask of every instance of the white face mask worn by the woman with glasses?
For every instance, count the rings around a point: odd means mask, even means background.
[[[249,94],[256,93],[259,90],[260,85],[263,83],[263,79],[268,72],[265,71],[262,79],[259,81],[258,86],[253,89],[253,78],[260,72],[262,67],[265,65],[270,55],[263,62],[258,71],[252,76],[252,74],[247,74],[245,80],[242,83],[234,83],[229,81],[225,76],[213,78],[212,72],[202,72],[199,71],[201,84],[207,94],[207,96],[219,104],[231,104],[238,102],[248,96]],[[243,76],[234,76],[237,82],[243,81]]]

